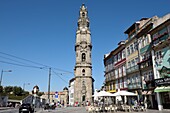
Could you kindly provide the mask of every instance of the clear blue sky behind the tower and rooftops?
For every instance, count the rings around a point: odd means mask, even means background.
[[[169,0],[1,0],[0,70],[12,70],[3,73],[3,86],[30,83],[25,90],[38,85],[40,91],[47,91],[48,68],[34,68],[44,65],[55,68],[52,91],[68,86],[74,77],[74,45],[82,3],[90,18],[92,73],[97,89],[104,81],[104,54],[127,38],[124,31],[143,17],[161,17],[170,12]]]

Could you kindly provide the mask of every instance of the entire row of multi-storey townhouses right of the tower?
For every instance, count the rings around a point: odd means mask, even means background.
[[[140,101],[151,101],[150,108],[170,109],[170,14],[142,18],[125,34],[124,49],[118,45],[104,57],[106,91],[128,90]]]

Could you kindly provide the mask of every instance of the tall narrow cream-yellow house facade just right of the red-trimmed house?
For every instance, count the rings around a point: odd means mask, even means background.
[[[141,20],[143,21],[143,20]],[[136,34],[141,26],[141,21],[132,24],[124,33],[128,35],[126,48],[126,74],[128,90],[141,96],[141,76],[139,71],[139,52]],[[138,100],[141,98],[138,96]]]

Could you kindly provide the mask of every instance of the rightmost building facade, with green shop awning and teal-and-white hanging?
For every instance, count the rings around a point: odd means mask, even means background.
[[[170,14],[159,18],[150,31],[158,109],[170,109]]]

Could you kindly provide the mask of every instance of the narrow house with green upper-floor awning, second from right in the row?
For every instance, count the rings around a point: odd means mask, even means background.
[[[142,85],[142,100],[150,101],[151,104],[147,105],[148,108],[157,108],[155,104],[154,94],[154,75],[153,75],[153,63],[152,63],[152,43],[149,31],[153,28],[154,22],[158,19],[157,16],[145,19],[144,24],[141,26],[136,34],[138,40],[138,52],[139,52],[139,71],[141,71],[141,85]]]

